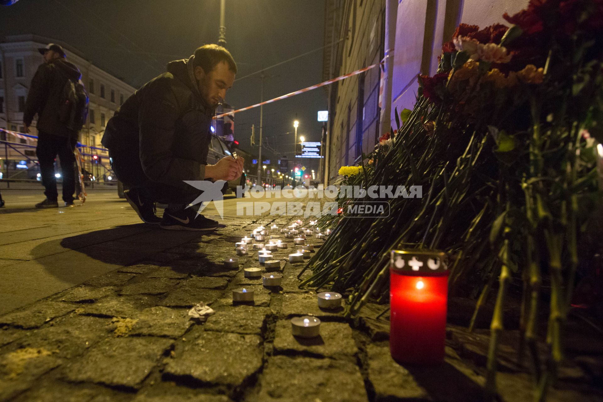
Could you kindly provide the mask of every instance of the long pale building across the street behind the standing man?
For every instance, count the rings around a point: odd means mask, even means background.
[[[0,42],[0,128],[24,131],[23,110],[27,92],[38,66],[44,61],[37,49],[48,43],[63,46],[67,60],[74,63],[82,73],[82,82],[90,96],[90,113],[84,128],[80,131],[80,142],[83,145],[100,148],[105,125],[125,99],[136,89],[86,60],[85,56],[72,46],[46,37],[14,35],[7,36],[3,42]],[[36,120],[34,119],[30,134],[37,135],[35,126]],[[5,136],[4,133],[0,133],[0,136],[2,140],[36,145],[35,140],[26,140],[10,134]],[[86,149],[86,153],[98,154],[100,163],[104,166],[109,165],[109,155],[105,152],[98,149]],[[24,154],[30,159],[36,159],[34,148],[25,149]],[[5,149],[0,149],[0,158],[4,160],[5,157]],[[14,169],[14,166],[11,165],[23,159],[23,155],[9,148],[8,162],[5,162],[2,169],[5,172],[7,168],[8,171],[11,171]],[[97,172],[99,176],[104,174],[104,169],[92,169],[90,157],[86,157],[85,165],[84,168],[92,174],[96,175]]]

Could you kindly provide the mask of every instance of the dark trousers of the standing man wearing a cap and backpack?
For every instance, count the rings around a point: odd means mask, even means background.
[[[49,133],[38,133],[36,155],[40,163],[40,174],[44,195],[51,201],[58,198],[57,178],[54,171],[54,160],[58,155],[61,162],[63,179],[63,201],[71,203],[75,193],[75,145],[77,139],[55,136]]]

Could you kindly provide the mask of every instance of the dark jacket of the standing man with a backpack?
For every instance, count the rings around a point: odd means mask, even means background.
[[[77,139],[78,132],[60,121],[58,108],[67,80],[80,80],[80,70],[69,61],[58,58],[39,66],[27,93],[23,122],[30,125],[38,115],[36,128],[43,133]]]

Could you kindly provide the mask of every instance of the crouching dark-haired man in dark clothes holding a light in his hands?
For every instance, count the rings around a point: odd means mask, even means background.
[[[216,106],[235,81],[236,64],[218,45],[201,46],[133,93],[107,123],[103,145],[125,196],[140,219],[164,229],[209,231],[218,222],[186,208],[199,190],[184,180],[234,180],[244,160],[207,165]],[[155,202],[168,204],[163,218]]]

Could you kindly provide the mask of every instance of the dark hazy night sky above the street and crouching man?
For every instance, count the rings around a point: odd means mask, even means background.
[[[0,8],[0,35],[37,34],[69,43],[136,88],[165,71],[168,61],[216,43],[218,28],[219,0],[21,0]],[[238,64],[237,78],[320,48],[323,29],[323,0],[226,0],[227,48]],[[264,100],[320,83],[322,55],[318,50],[268,70]],[[235,108],[259,100],[259,74],[235,81],[226,99]],[[298,136],[319,141],[317,111],[326,105],[324,89],[266,105],[268,143],[291,151],[296,116]],[[251,124],[257,128],[259,121],[259,108],[235,115],[241,148],[251,151]]]

